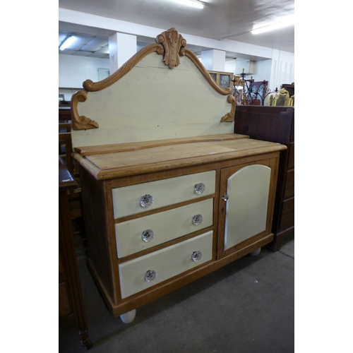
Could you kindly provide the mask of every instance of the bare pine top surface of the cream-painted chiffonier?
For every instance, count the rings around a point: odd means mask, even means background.
[[[76,152],[74,158],[96,179],[102,180],[248,157],[287,147],[247,136],[225,134],[169,140],[169,143],[168,140],[159,140],[95,148],[77,148],[81,153]]]

